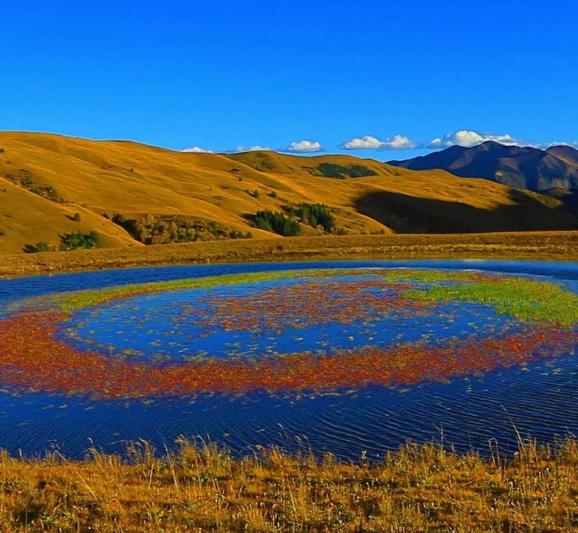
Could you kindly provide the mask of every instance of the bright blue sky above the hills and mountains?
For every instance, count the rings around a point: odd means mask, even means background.
[[[575,1],[0,0],[0,16],[5,130],[379,160],[578,141]]]

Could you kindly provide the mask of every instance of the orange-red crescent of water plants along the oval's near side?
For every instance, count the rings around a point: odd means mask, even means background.
[[[257,360],[156,363],[79,350],[57,338],[66,314],[24,314],[0,321],[0,383],[23,391],[95,398],[234,394],[254,390],[329,391],[395,386],[484,372],[568,353],[578,332],[533,327],[501,339],[454,340],[439,347],[370,347]]]

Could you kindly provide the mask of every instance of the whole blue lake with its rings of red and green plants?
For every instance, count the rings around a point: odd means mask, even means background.
[[[577,265],[529,261],[0,280],[0,447],[83,457],[182,435],[237,455],[379,459],[442,439],[512,453],[517,432],[578,432],[576,293]]]

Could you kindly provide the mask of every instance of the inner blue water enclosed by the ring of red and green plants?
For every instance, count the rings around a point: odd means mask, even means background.
[[[436,310],[425,316],[408,316],[403,313],[403,309],[394,309],[391,313],[376,313],[369,320],[351,324],[323,323],[297,327],[305,325],[305,320],[295,320],[297,324],[291,325],[287,324],[287,317],[280,317],[276,324],[280,332],[266,328],[257,328],[257,331],[227,331],[223,325],[207,328],[195,324],[195,318],[199,318],[195,317],[195,311],[197,314],[203,312],[202,317],[209,318],[216,313],[212,306],[198,303],[203,298],[218,301],[219,297],[258,297],[264,290],[273,287],[284,288],[290,296],[291,288],[312,281],[323,291],[324,286],[329,287],[335,280],[362,282],[371,279],[369,275],[357,276],[357,279],[355,276],[288,278],[275,282],[140,295],[107,303],[96,309],[84,309],[67,321],[65,328],[75,335],[75,345],[83,348],[99,348],[103,353],[131,350],[145,358],[171,357],[172,360],[199,355],[217,358],[260,357],[268,354],[317,352],[328,348],[348,350],[369,345],[386,347],[417,341],[435,345],[439,340],[456,334],[462,337],[473,334],[503,336],[506,332],[513,333],[518,329],[513,320],[498,315],[488,306],[465,302],[449,302],[443,306],[443,313]],[[385,297],[388,293],[385,291],[381,294],[375,288],[368,292]],[[344,306],[354,303],[347,302],[346,295],[337,296],[340,296],[339,302]],[[195,302],[194,310],[187,308],[191,302]],[[318,313],[321,316],[329,311],[320,305]],[[63,337],[66,338],[66,335]]]

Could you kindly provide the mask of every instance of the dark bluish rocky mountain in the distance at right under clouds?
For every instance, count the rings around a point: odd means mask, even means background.
[[[539,150],[488,140],[470,148],[454,145],[427,156],[388,164],[416,171],[443,169],[455,176],[483,177],[538,192],[578,188],[578,150],[571,146]]]

